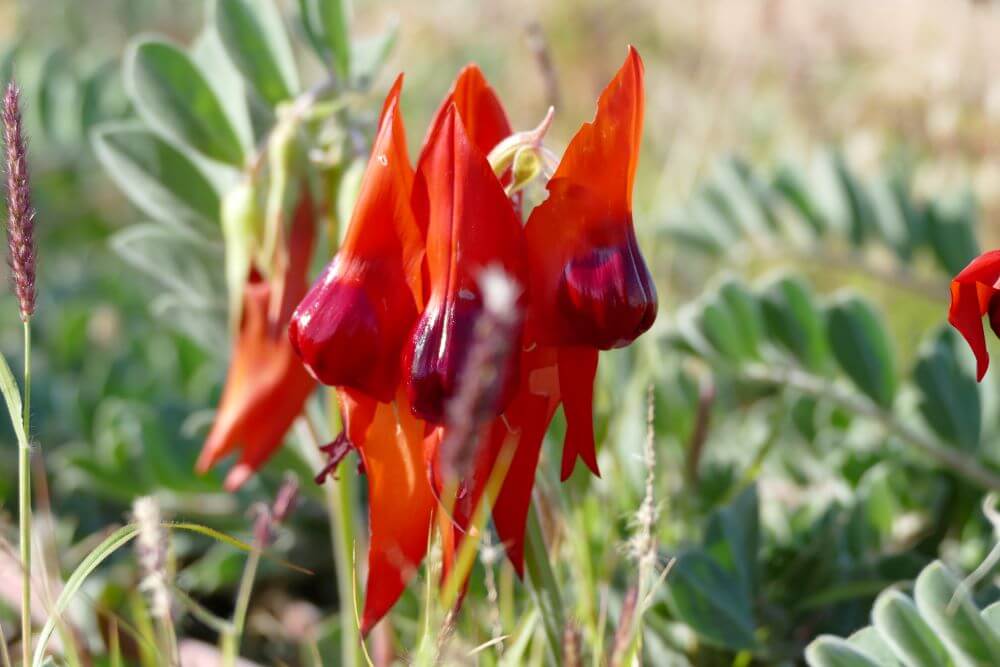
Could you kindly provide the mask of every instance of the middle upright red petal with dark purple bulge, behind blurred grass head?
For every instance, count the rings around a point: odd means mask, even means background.
[[[450,106],[429,137],[417,166],[413,210],[427,230],[428,299],[404,357],[404,379],[415,414],[440,423],[483,311],[479,284],[487,268],[500,268],[526,285],[524,235],[503,187],[483,153],[469,140]],[[523,301],[523,295],[522,295]],[[521,326],[516,327],[515,345]],[[517,387],[517,357],[504,374],[497,412]]]

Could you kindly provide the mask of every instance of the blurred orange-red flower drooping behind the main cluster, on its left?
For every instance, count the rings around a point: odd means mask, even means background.
[[[287,332],[292,308],[306,291],[315,215],[303,185],[280,271],[265,279],[251,269],[247,280],[222,400],[196,465],[204,473],[240,450],[239,461],[226,477],[230,491],[242,486],[281,446],[315,387]]]

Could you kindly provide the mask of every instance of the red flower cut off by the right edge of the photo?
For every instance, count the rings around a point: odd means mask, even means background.
[[[951,281],[951,308],[948,322],[968,341],[976,355],[976,379],[982,380],[990,365],[983,333],[983,316],[1000,336],[1000,250],[983,253],[972,260]]]

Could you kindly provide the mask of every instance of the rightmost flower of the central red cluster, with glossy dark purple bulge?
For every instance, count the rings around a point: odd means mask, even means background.
[[[556,408],[562,404],[567,422],[562,478],[570,476],[577,457],[597,474],[592,399],[598,352],[632,342],[656,317],[655,287],[632,226],[642,73],[630,47],[601,94],[594,120],[567,147],[548,183],[548,199],[529,216],[521,384],[484,439],[453,517],[465,527],[500,448],[513,438],[514,460],[493,501],[493,520],[518,574],[535,469]]]

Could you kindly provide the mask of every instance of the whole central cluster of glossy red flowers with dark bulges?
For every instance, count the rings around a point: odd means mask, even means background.
[[[598,472],[591,407],[598,350],[631,343],[656,317],[631,212],[642,70],[630,48],[525,224],[507,179],[487,160],[512,131],[478,68],[459,75],[415,170],[399,109],[402,77],[389,93],[344,243],[289,328],[306,368],[338,388],[346,438],[367,473],[364,632],[402,593],[435,521],[450,567],[508,443],[513,461],[492,499],[493,519],[522,571],[539,449],[560,404],[568,423],[563,478],[577,458]],[[439,502],[447,482],[441,446],[486,308],[487,269],[502,269],[520,290],[506,331],[513,353],[494,369],[501,386],[449,513]]]

